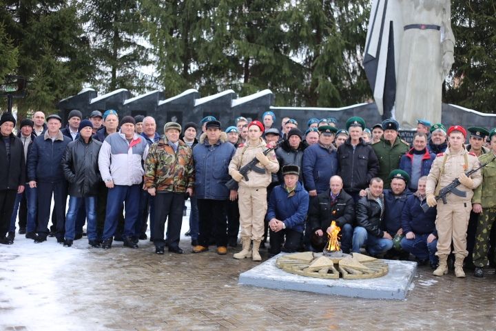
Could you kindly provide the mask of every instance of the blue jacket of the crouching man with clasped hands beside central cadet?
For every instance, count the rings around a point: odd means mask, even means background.
[[[291,193],[282,184],[273,188],[265,218],[267,221],[278,219],[285,223],[286,228],[303,233],[308,208],[309,194],[299,181]]]

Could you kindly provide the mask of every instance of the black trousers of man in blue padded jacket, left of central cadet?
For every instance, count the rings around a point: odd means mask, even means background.
[[[198,243],[209,246],[212,232],[217,247],[227,245],[227,200],[198,199]]]

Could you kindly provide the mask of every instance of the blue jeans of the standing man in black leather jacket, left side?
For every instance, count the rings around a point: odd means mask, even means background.
[[[68,214],[65,217],[65,239],[74,240],[76,219],[81,205],[85,206],[87,217],[87,237],[96,240],[96,197],[70,197]]]

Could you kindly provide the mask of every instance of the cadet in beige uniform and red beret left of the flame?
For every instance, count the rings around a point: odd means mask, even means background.
[[[238,205],[240,211],[241,241],[242,250],[234,254],[234,259],[251,258],[253,261],[261,261],[262,257],[258,253],[260,242],[264,235],[264,218],[267,212],[267,186],[272,181],[271,173],[279,170],[279,163],[276,153],[270,151],[264,154],[270,145],[263,141],[262,133],[264,126],[259,121],[252,121],[248,124],[248,140],[245,144],[240,144],[236,154],[229,163],[229,174],[239,183]],[[255,171],[247,173],[249,181],[246,181],[239,170],[254,158],[258,159],[259,168],[265,169],[263,174]],[[253,240],[253,252],[250,252],[250,241]]]

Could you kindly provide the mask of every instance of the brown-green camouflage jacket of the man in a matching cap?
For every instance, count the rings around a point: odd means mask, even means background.
[[[163,137],[150,146],[145,160],[145,188],[167,192],[186,192],[194,185],[193,152],[179,141],[177,152]]]

